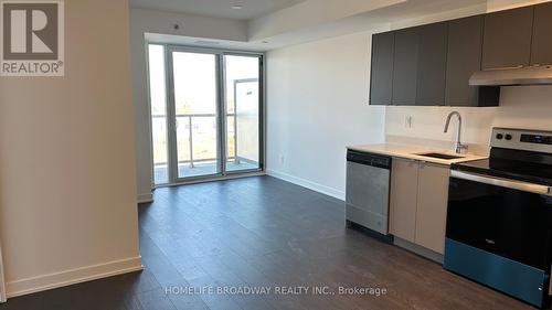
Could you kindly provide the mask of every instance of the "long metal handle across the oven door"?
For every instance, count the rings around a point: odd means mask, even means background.
[[[548,195],[548,196],[552,195],[552,189],[550,186],[523,182],[523,181],[511,181],[511,180],[507,180],[507,179],[488,177],[488,175],[482,175],[482,174],[477,174],[477,173],[467,173],[467,172],[461,172],[461,171],[457,171],[457,170],[453,170],[450,172],[450,177],[457,178],[457,179],[463,179],[463,180],[468,180],[468,181],[474,181],[474,182],[479,182],[479,183],[485,183],[485,184],[489,184],[489,185],[506,188],[506,189],[519,190],[519,191],[529,192],[529,193],[535,193],[535,194]]]

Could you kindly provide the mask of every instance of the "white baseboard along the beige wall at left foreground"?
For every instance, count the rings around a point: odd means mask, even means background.
[[[6,284],[8,298],[86,282],[144,269],[141,257],[108,261]]]

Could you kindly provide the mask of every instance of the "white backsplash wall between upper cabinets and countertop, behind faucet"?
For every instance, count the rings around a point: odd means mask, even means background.
[[[552,86],[502,87],[500,106],[492,108],[388,107],[385,133],[411,138],[454,141],[456,120],[448,133],[443,132],[447,115],[458,110],[463,116],[463,140],[488,146],[492,127],[552,130]],[[404,118],[412,117],[412,128]]]

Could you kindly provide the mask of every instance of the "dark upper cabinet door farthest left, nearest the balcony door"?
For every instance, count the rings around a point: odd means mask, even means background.
[[[371,105],[391,105],[394,45],[394,32],[372,35]]]

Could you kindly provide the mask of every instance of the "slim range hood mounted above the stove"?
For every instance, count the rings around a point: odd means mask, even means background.
[[[471,86],[552,85],[552,66],[528,66],[479,71],[469,78]]]

